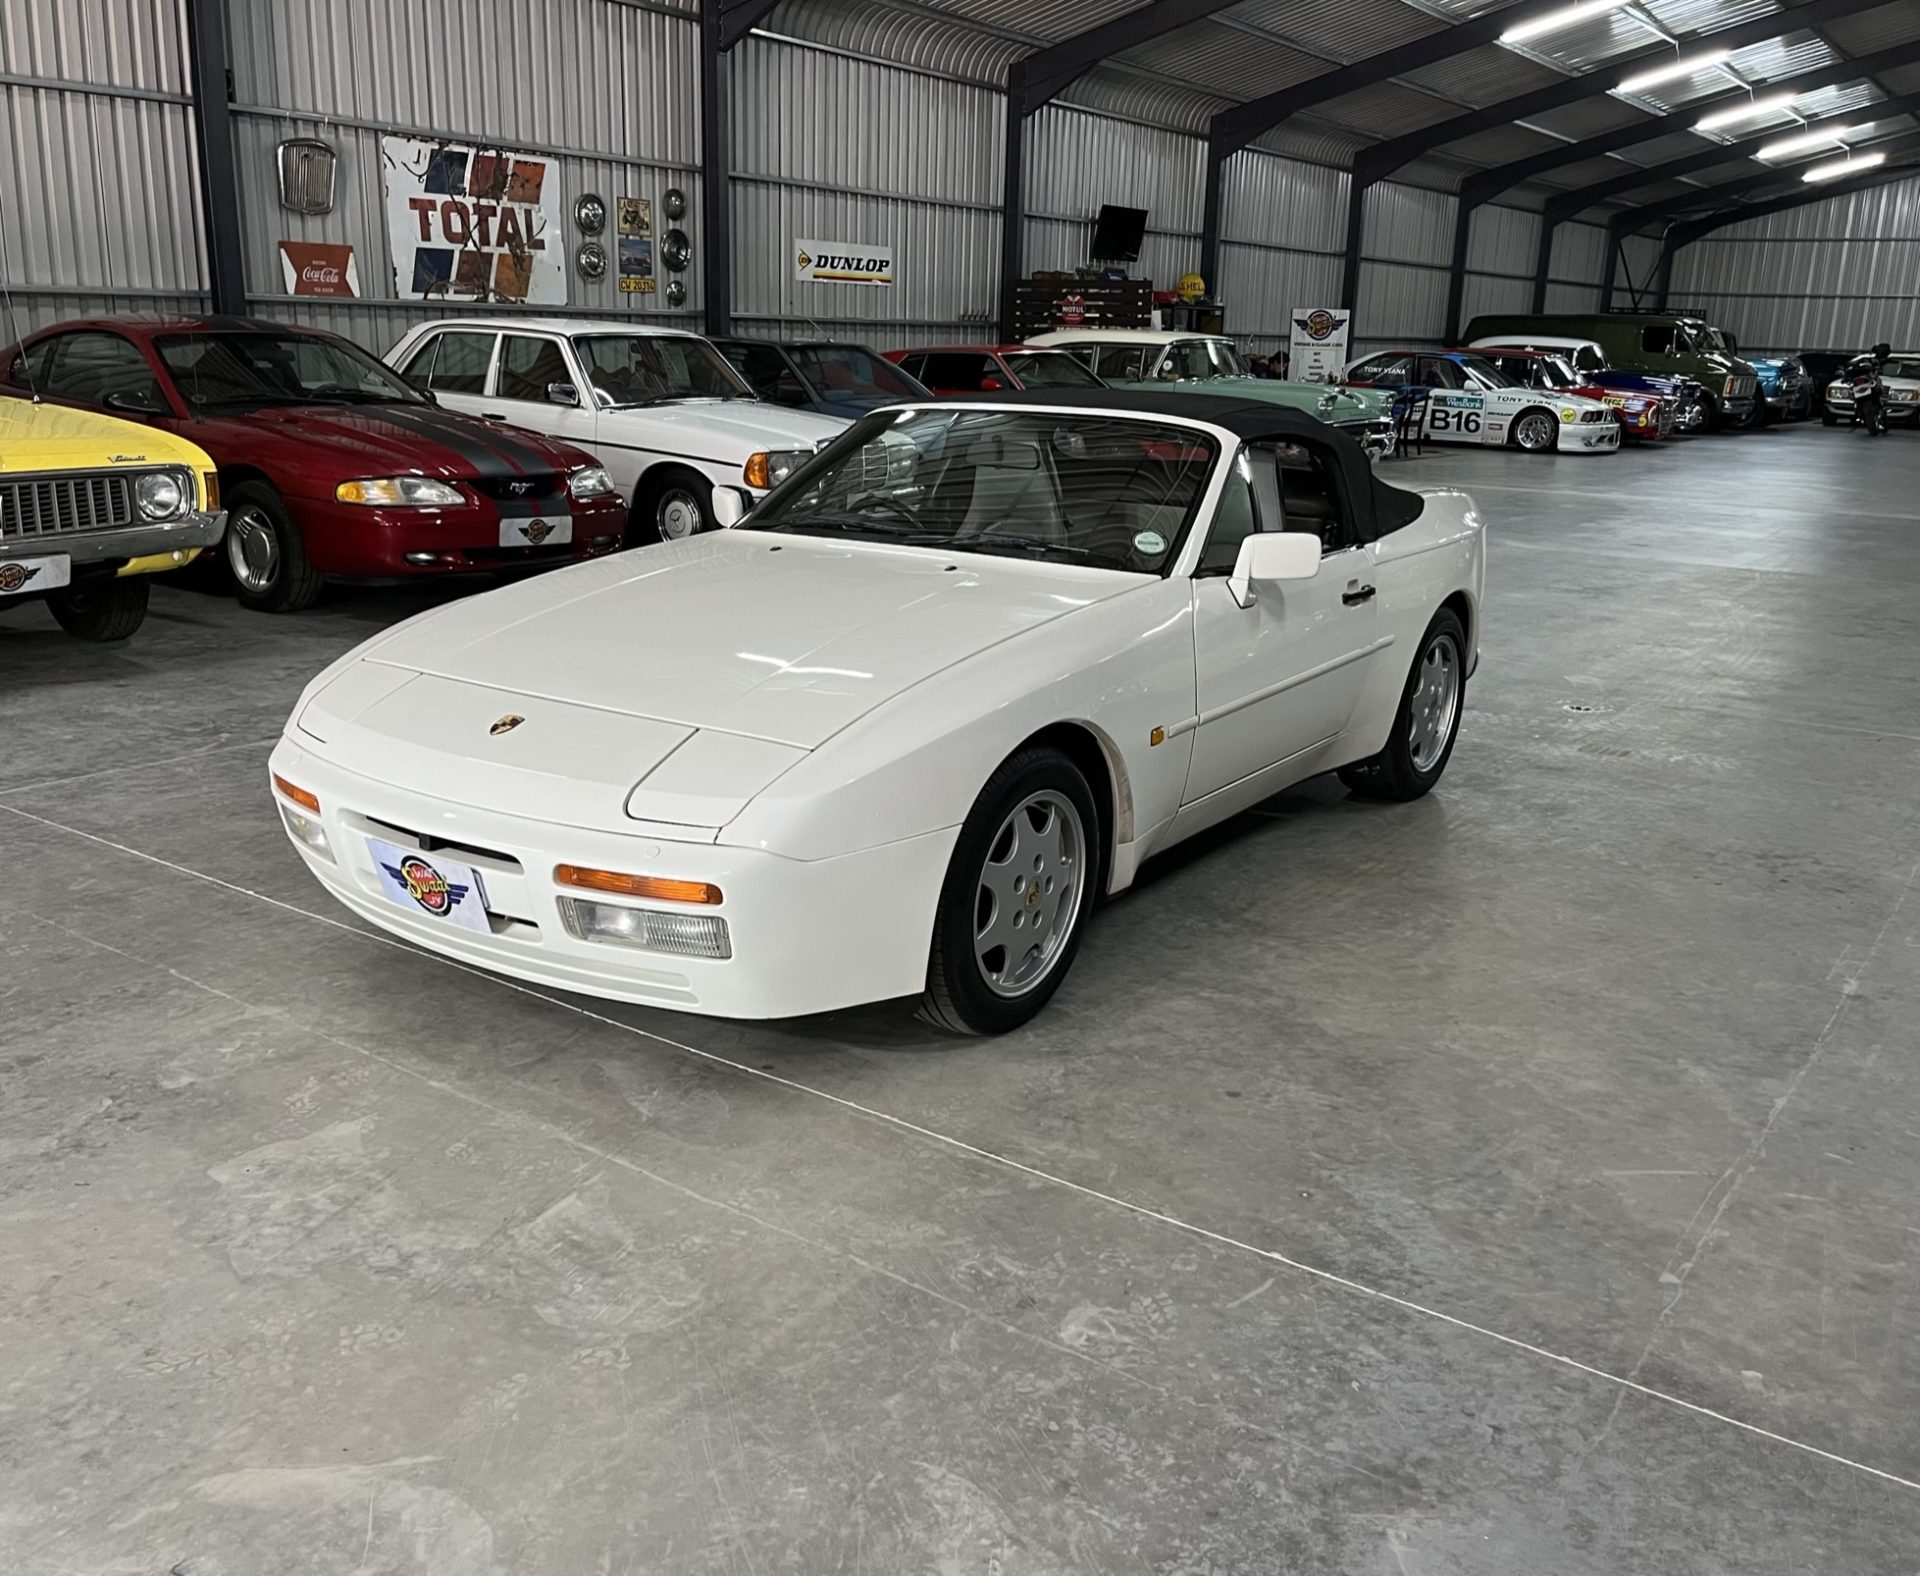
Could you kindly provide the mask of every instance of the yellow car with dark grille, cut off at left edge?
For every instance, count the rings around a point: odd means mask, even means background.
[[[152,426],[0,399],[0,609],[44,601],[83,641],[146,618],[146,578],[219,543],[204,449]]]

